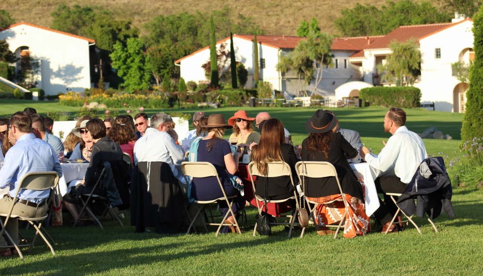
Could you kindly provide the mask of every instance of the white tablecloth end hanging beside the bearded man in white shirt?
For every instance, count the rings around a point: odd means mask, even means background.
[[[377,195],[374,179],[376,175],[370,169],[370,165],[364,163],[351,163],[355,176],[365,187],[364,198],[366,200],[366,214],[370,216],[379,208],[379,196]]]

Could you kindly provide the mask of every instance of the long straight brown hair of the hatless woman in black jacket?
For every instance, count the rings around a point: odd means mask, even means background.
[[[251,159],[257,164],[258,171],[266,174],[267,163],[284,161],[280,144],[285,143],[285,131],[279,119],[272,118],[263,125],[258,145],[252,147]]]

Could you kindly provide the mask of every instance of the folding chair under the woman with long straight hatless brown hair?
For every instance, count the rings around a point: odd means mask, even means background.
[[[254,162],[250,162],[248,164],[248,173],[251,176],[259,176],[259,177],[267,177],[267,178],[274,178],[274,177],[280,177],[280,176],[290,177],[290,182],[292,183],[292,186],[293,186],[293,196],[290,196],[289,198],[285,198],[285,199],[280,199],[280,200],[266,200],[265,198],[263,198],[259,195],[255,195],[255,191],[256,191],[255,182],[253,182],[253,178],[251,178],[252,179],[253,194],[254,194],[255,199],[256,199],[255,201],[257,203],[257,209],[258,209],[259,215],[261,215],[263,207],[268,203],[281,203],[281,202],[285,202],[289,199],[295,199],[296,207],[295,207],[295,209],[292,209],[292,214],[291,215],[281,215],[282,217],[290,217],[289,223],[272,223],[272,222],[270,223],[270,225],[290,225],[289,236],[288,236],[288,238],[290,238],[290,236],[292,234],[293,226],[299,225],[299,223],[295,223],[295,218],[297,217],[297,210],[299,209],[300,205],[299,205],[299,201],[297,199],[297,194],[295,193],[295,185],[293,183],[292,171],[290,169],[289,164],[287,164],[286,162],[268,162],[267,163],[267,172],[264,175],[262,175],[258,171],[257,164],[254,163]],[[267,191],[267,193],[268,193],[268,191]],[[263,202],[262,206],[259,206],[258,201]],[[257,223],[255,223],[255,228],[253,229],[253,236],[254,237],[256,236],[256,233],[257,233]]]

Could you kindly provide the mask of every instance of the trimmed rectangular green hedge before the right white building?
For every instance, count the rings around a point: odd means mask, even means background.
[[[375,106],[416,108],[420,104],[421,90],[412,86],[367,87],[360,90],[359,97]]]

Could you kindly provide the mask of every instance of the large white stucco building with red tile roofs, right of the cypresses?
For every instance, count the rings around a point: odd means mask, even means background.
[[[373,85],[395,85],[381,83],[381,78],[374,78],[376,66],[384,63],[391,54],[389,43],[415,39],[421,51],[421,76],[414,86],[421,89],[421,103],[435,102],[435,110],[464,112],[468,84],[458,81],[453,76],[451,64],[461,61],[468,63],[474,55],[473,21],[464,15],[455,13],[451,23],[401,26],[386,35],[336,38],[332,45],[335,67],[323,68],[322,81],[317,93],[334,100],[346,97],[358,97],[359,90]],[[235,34],[233,43],[237,62],[248,69],[249,78],[245,87],[254,86],[254,44],[253,35]],[[287,54],[297,46],[303,37],[293,36],[257,36],[260,79],[269,81],[274,89],[296,95],[301,87],[297,85],[295,74],[286,74],[285,81],[276,71],[279,56]],[[226,43],[229,49],[229,37],[217,42],[217,47]],[[181,77],[185,81],[206,80],[201,65],[209,60],[209,47],[205,47],[185,56],[175,63],[180,66]],[[290,85],[290,83],[292,85]],[[314,91],[315,82],[306,86]]]

